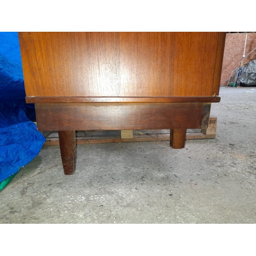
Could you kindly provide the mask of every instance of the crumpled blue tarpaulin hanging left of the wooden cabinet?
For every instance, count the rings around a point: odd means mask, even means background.
[[[25,102],[18,34],[0,32],[0,189],[46,141],[32,120],[35,111]]]

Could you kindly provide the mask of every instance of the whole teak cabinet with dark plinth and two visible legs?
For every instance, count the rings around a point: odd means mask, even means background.
[[[65,174],[75,131],[170,129],[182,148],[219,102],[224,32],[19,32],[27,103],[58,131]]]

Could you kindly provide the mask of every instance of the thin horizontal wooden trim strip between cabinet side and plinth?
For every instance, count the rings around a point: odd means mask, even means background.
[[[27,103],[199,103],[220,97],[26,97]]]

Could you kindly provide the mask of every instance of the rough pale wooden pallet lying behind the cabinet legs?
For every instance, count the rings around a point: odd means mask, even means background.
[[[201,129],[197,133],[187,133],[186,140],[196,140],[196,139],[214,139],[216,137],[217,129],[217,117],[210,117],[207,129]],[[121,131],[120,137],[77,137],[77,144],[96,144],[96,143],[117,143],[117,142],[142,142],[142,141],[168,141],[170,140],[170,135],[168,134],[139,134],[134,135],[132,130]],[[46,146],[59,145],[58,138],[46,138]]]

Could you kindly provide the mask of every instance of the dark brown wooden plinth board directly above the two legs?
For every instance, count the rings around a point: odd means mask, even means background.
[[[36,103],[40,131],[200,129],[203,103]]]

